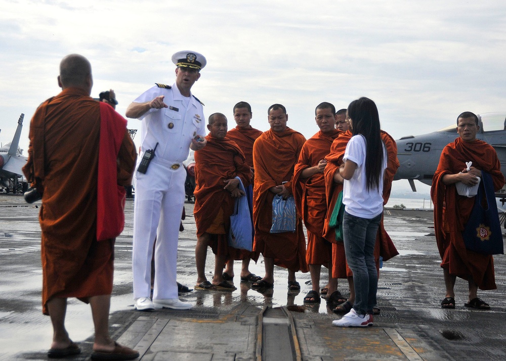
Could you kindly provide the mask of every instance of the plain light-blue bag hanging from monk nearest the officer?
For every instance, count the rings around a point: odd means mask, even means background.
[[[246,193],[239,177],[239,189]],[[234,213],[230,216],[230,232],[228,245],[238,249],[253,249],[251,213],[246,195],[235,199]]]

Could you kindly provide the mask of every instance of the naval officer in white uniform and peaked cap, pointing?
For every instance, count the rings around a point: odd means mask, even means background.
[[[176,283],[179,225],[185,201],[186,171],[182,162],[189,149],[202,149],[206,141],[202,103],[191,94],[205,58],[192,51],[173,55],[176,82],[156,84],[126,109],[126,116],[142,120],[141,153],[135,172],[134,273],[135,308],[188,309],[180,301]],[[154,150],[145,173],[142,159]],[[141,168],[139,168],[141,166]],[[151,258],[155,246],[155,281],[151,295]]]

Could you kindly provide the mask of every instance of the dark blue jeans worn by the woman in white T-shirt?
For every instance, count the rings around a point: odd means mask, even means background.
[[[343,236],[346,260],[353,272],[355,303],[358,314],[372,313],[376,305],[378,274],[374,262],[374,244],[382,214],[361,218],[346,212],[343,216]]]

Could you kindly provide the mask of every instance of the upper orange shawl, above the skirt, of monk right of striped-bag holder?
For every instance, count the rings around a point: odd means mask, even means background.
[[[293,174],[292,192],[299,212],[304,219],[308,231],[321,237],[323,224],[327,213],[325,200],[325,179],[323,173],[316,173],[309,178],[302,179],[304,169],[318,165],[330,153],[334,139],[338,137],[339,130],[333,129],[329,134],[321,130],[304,143],[295,165]]]

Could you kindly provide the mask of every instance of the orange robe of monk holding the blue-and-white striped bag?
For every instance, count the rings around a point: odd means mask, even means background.
[[[302,219],[298,214],[296,231],[271,234],[272,200],[271,187],[284,186],[291,190],[293,168],[299,159],[304,136],[290,128],[276,133],[267,130],[255,141],[253,164],[255,184],[253,187],[253,223],[255,242],[253,249],[264,257],[274,258],[274,264],[293,272],[308,272],[306,262],[306,239]]]

